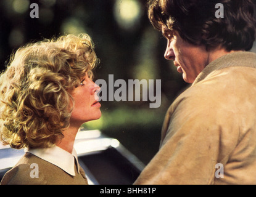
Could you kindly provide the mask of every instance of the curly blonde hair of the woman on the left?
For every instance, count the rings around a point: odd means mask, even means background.
[[[0,140],[12,148],[46,148],[63,137],[72,90],[99,63],[88,34],[21,47],[0,76]]]

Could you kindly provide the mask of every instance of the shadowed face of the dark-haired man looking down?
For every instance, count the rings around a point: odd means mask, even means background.
[[[197,75],[209,64],[209,52],[204,46],[195,46],[184,41],[176,31],[162,26],[162,33],[167,38],[164,57],[173,60],[177,71],[183,73],[184,81],[194,82]]]

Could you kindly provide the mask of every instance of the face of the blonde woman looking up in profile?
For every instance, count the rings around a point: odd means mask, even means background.
[[[83,124],[85,122],[101,118],[101,103],[97,102],[97,92],[100,87],[97,86],[86,73],[82,78],[81,83],[72,92],[72,97],[75,100],[70,124]]]

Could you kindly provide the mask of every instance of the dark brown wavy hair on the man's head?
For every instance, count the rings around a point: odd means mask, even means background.
[[[224,17],[215,17],[217,3]],[[181,38],[207,49],[250,50],[255,40],[255,5],[252,0],[151,0],[149,20],[157,30],[162,25]]]

